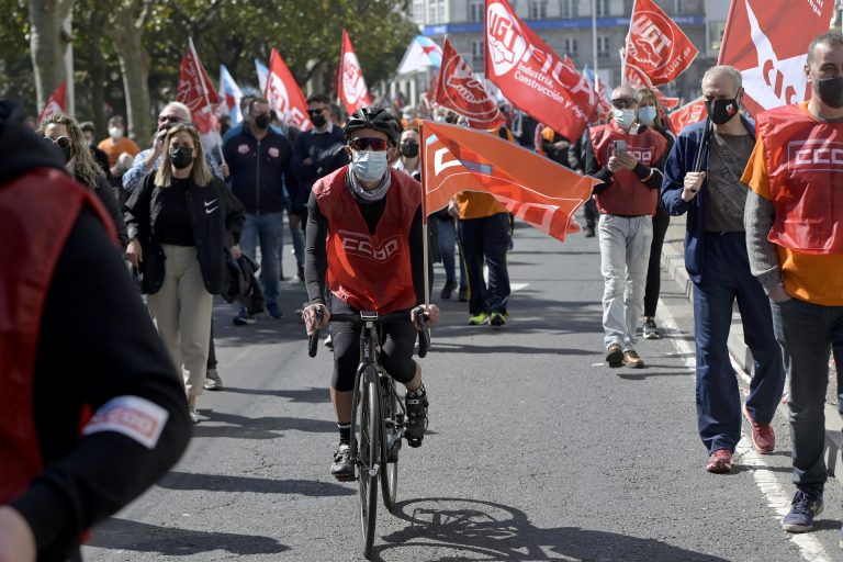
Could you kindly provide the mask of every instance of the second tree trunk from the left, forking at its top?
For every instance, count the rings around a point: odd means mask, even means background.
[[[144,47],[146,11],[136,15],[138,1],[124,2],[112,12],[105,34],[114,45],[126,94],[128,136],[147,146],[153,135],[149,113],[149,54]]]

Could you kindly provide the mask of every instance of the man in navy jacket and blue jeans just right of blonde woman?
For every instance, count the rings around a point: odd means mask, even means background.
[[[296,186],[291,172],[292,146],[269,126],[269,102],[256,98],[249,103],[249,121],[243,130],[228,137],[223,155],[231,173],[232,192],[246,207],[246,224],[240,235],[240,248],[255,257],[260,240],[260,282],[267,301],[267,312],[282,318],[278,306],[280,260],[284,225],[284,181]],[[254,324],[256,317],[241,307],[234,319],[238,326]]]

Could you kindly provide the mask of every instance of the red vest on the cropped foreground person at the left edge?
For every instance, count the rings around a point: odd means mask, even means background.
[[[41,317],[56,262],[85,205],[116,239],[102,204],[59,170],[35,169],[0,186],[0,505],[20,496],[43,470],[33,411]]]

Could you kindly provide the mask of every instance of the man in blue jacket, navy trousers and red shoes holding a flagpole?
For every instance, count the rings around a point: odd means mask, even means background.
[[[662,202],[672,215],[688,213],[685,268],[694,282],[697,348],[697,425],[708,449],[706,470],[732,470],[741,438],[741,397],[727,340],[737,299],[744,341],[752,351],[753,379],[743,414],[756,451],[773,452],[769,423],[785,383],[782,353],[773,334],[769,302],[750,271],[740,181],[755,144],[755,125],[740,113],[741,74],[730,66],[702,77],[708,121],[685,127],[664,167]],[[712,124],[711,131],[706,128]],[[701,165],[695,169],[702,146]]]

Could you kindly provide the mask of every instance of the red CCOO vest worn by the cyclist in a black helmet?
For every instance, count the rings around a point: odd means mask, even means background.
[[[422,186],[390,168],[386,206],[374,234],[346,186],[348,166],[313,186],[319,211],[328,222],[328,289],[360,311],[381,314],[417,304],[409,262],[409,228]]]

